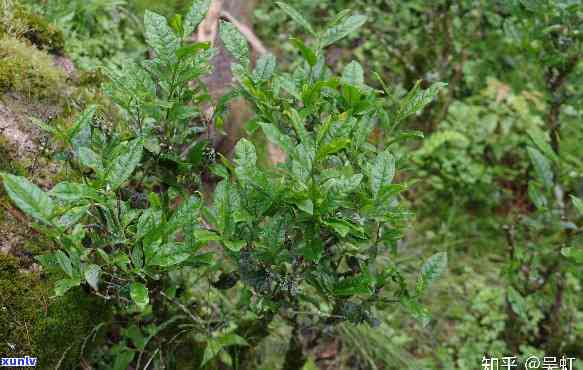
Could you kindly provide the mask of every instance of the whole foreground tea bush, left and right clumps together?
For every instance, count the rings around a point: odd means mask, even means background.
[[[45,192],[2,174],[13,202],[58,247],[37,257],[63,276],[55,294],[84,285],[116,303],[116,369],[164,362],[161,353],[173,348],[161,338],[202,343],[197,366],[252,368],[276,318],[292,327],[283,368],[299,369],[307,327],[316,328],[315,343],[340,322],[375,326],[375,310],[391,304],[428,320],[418,299],[447,258],[432,256],[413,288],[400,271],[397,241],[412,213],[401,196],[408,185],[395,181],[406,159],[395,144],[407,137],[397,125],[443,85],[417,84],[389,105],[386,92],[365,84],[359,63],[341,76],[326,67],[324,49],[365,17],[344,12],[316,32],[279,5],[316,38],[313,48],[293,40],[301,63],[291,74],[278,71],[272,55],[251,69],[245,39],[222,22],[237,85],[209,114],[200,78],[213,49],[188,41],[209,1],[195,1],[170,23],[146,12],[155,56],[107,73],[104,90],[120,108],[119,121],[99,120],[90,106],[71,127],[38,122],[60,142],[67,180]],[[259,166],[247,139],[237,143],[233,161],[215,163],[208,127],[220,126],[238,95],[256,113],[248,130],[261,128],[285,153],[284,163]],[[391,136],[376,135],[379,127]],[[201,189],[210,176],[220,182],[207,206]]]

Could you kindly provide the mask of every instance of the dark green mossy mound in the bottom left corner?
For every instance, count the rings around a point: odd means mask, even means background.
[[[56,299],[52,291],[50,280],[0,255],[0,357],[37,357],[41,369],[78,368],[85,339],[111,312],[81,288]]]

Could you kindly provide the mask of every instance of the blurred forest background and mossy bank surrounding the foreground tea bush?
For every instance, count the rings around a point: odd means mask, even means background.
[[[411,140],[392,147],[407,160],[399,181],[416,181],[403,196],[415,218],[396,243],[396,263],[403,276],[415,278],[422,261],[447,252],[447,271],[422,298],[427,312],[378,308],[374,325],[342,322],[315,346],[306,333],[303,368],[479,369],[484,356],[564,355],[583,369],[580,1],[288,4],[318,30],[346,9],[366,15],[362,28],[327,48],[325,57],[338,74],[358,61],[364,83],[389,102],[416,86],[448,84],[400,124]],[[238,20],[247,32],[252,59],[269,51],[284,71],[304,63],[290,38],[309,44],[315,37],[275,2],[222,5],[220,17]],[[60,167],[66,159],[30,117],[66,126],[96,104],[94,120],[116,122],[102,88],[110,76],[105,71],[152,56],[146,10],[171,18],[190,6],[182,0],[0,0],[0,169],[43,188],[66,178]],[[210,39],[199,32],[199,40],[222,48],[212,27],[209,32]],[[209,101],[231,86],[231,62],[223,49],[211,59]],[[245,136],[257,147],[258,162],[274,166],[281,153],[254,129],[250,105],[231,103],[223,134],[213,132],[210,147],[232,157],[237,138]],[[36,355],[47,369],[237,368],[232,348],[241,343],[233,337],[177,341],[164,348],[164,359],[144,367],[161,352],[152,338],[163,325],[139,313],[120,318],[90,289],[53,297],[57,278],[39,271],[33,257],[55,246],[4,190],[0,206],[0,357]],[[236,305],[217,289],[212,294],[205,299],[236,315]],[[293,343],[289,322],[273,320],[268,330],[250,368],[280,368]]]

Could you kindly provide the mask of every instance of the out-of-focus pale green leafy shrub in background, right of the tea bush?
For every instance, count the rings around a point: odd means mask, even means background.
[[[505,202],[521,206],[528,161],[517,149],[530,142],[529,131],[544,136],[545,109],[540,94],[514,94],[496,80],[480,94],[454,102],[414,156],[437,192],[433,197],[486,208]]]

